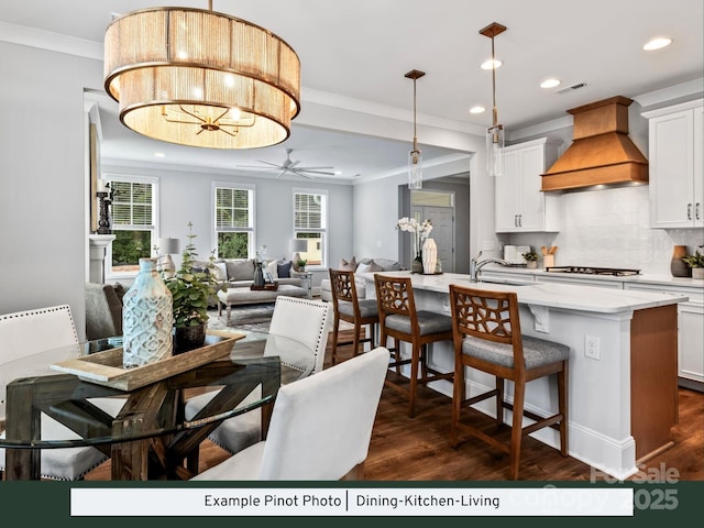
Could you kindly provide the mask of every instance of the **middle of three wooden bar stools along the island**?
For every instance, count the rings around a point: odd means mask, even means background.
[[[394,361],[389,364],[399,373],[402,365],[410,364],[408,389],[405,384],[386,381],[386,385],[408,396],[408,416],[416,416],[418,384],[427,385],[439,380],[452,381],[452,372],[439,372],[428,366],[428,344],[452,341],[452,318],[427,310],[416,310],[410,277],[374,275],[376,304],[381,327],[381,345],[394,339]],[[410,343],[410,359],[402,359],[399,341]],[[418,377],[420,367],[420,377]]]

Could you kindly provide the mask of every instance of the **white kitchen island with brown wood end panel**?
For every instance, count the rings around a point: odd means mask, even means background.
[[[410,275],[385,272],[383,275]],[[359,274],[374,297],[374,274]],[[418,309],[450,315],[449,285],[516,292],[521,331],[571,348],[570,455],[626,479],[637,463],[672,444],[670,428],[678,419],[678,304],[683,294],[610,290],[566,284],[502,280],[470,282],[469,275],[411,275]],[[585,343],[590,343],[588,350]],[[450,343],[436,343],[430,362],[439,371],[454,367]],[[466,394],[494,386],[492,376],[470,370]],[[451,384],[431,385],[448,396]],[[526,408],[540,416],[554,413],[557,382],[541,378],[528,384]],[[507,384],[513,397],[513,384]],[[477,408],[493,416],[491,400]],[[510,424],[510,413],[505,421]],[[422,419],[422,416],[419,417]],[[448,417],[448,420],[450,417]],[[547,428],[532,435],[552,447],[558,431]]]

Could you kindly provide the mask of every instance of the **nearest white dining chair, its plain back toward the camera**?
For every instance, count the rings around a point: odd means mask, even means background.
[[[194,481],[361,480],[388,369],[378,346],[315,376],[284,385],[266,440]]]

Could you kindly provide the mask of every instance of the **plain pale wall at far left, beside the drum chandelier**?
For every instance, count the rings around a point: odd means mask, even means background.
[[[68,304],[85,328],[84,88],[102,63],[0,42],[0,314]]]

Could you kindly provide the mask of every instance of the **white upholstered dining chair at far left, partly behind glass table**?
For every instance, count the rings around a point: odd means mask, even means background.
[[[52,306],[35,310],[18,311],[0,316],[0,425],[4,422],[6,386],[12,380],[29,375],[26,371],[14,372],[13,363],[25,355],[59,346],[78,344],[76,326],[68,305]],[[106,413],[116,416],[123,400],[95,398],[94,403]],[[0,427],[4,430],[4,427]],[[0,436],[3,436],[2,432]],[[74,431],[42,414],[42,436],[55,439],[78,439]],[[45,479],[75,481],[106,461],[108,457],[96,448],[43,449],[41,475]],[[6,469],[6,451],[0,449],[0,472]]]

